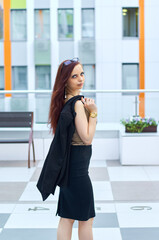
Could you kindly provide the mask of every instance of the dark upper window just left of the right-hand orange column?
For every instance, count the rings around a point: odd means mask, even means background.
[[[123,37],[138,37],[138,8],[123,8]]]

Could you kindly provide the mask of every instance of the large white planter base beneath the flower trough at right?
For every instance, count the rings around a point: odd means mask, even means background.
[[[120,131],[119,155],[122,165],[159,165],[159,133]]]

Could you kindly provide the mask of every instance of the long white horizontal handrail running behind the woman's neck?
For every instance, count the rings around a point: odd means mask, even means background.
[[[109,89],[109,90],[81,90],[81,93],[140,93],[140,92],[159,92],[159,89]],[[52,90],[0,90],[0,94],[5,93],[52,93]]]

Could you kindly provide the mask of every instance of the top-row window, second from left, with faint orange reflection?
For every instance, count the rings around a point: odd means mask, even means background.
[[[35,38],[50,39],[50,10],[35,10]]]

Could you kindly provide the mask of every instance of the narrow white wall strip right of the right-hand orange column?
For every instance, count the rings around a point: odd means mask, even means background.
[[[145,88],[159,89],[159,1],[145,0]],[[159,94],[147,94],[148,116],[159,119]]]

